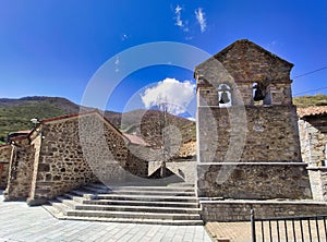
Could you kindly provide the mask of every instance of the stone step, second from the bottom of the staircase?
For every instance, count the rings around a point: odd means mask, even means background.
[[[144,211],[108,211],[108,210],[65,210],[66,216],[98,217],[98,218],[133,218],[133,219],[169,219],[169,220],[199,220],[198,214],[165,214]]]

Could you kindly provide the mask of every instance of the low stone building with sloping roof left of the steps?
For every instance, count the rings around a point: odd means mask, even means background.
[[[36,205],[98,180],[147,177],[147,162],[129,152],[129,143],[97,111],[44,120],[1,147],[9,161],[4,197]]]

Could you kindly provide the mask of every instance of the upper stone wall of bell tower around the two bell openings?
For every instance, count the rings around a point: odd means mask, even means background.
[[[254,83],[258,83],[266,93],[265,104],[291,105],[290,71],[292,66],[293,64],[254,43],[242,39],[197,65],[195,75],[208,81],[213,87],[197,80],[201,96],[208,106],[217,106],[217,88],[221,83],[230,85],[232,104],[237,106],[254,104]]]

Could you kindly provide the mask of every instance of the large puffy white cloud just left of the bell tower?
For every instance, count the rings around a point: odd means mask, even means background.
[[[185,112],[194,97],[195,85],[191,81],[181,82],[169,77],[146,88],[141,95],[145,108],[156,107],[165,102],[168,104],[168,111],[175,116]]]

